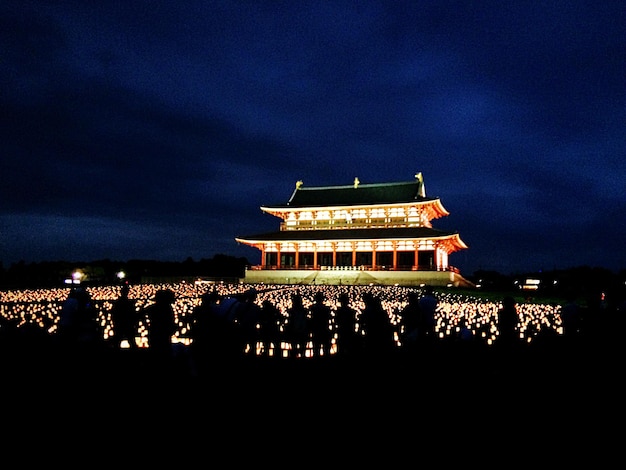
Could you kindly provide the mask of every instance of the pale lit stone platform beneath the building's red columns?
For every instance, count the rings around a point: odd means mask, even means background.
[[[474,284],[455,271],[366,271],[358,269],[248,269],[250,284],[453,286]]]

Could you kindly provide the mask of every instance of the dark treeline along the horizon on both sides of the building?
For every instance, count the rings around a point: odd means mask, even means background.
[[[83,284],[106,285],[121,281],[119,273],[124,273],[124,281],[130,283],[155,282],[158,279],[176,280],[190,278],[241,279],[247,258],[216,254],[212,258],[183,261],[110,259],[96,261],[43,261],[26,263],[20,261],[9,267],[0,262],[0,288],[49,288],[65,285],[72,273],[79,271]],[[626,270],[614,272],[601,267],[578,266],[566,269],[542,270],[502,274],[497,271],[479,270],[466,276],[486,292],[517,292],[529,297],[576,297],[598,298],[602,293],[611,297],[626,290]],[[525,291],[528,279],[539,280],[537,290]]]

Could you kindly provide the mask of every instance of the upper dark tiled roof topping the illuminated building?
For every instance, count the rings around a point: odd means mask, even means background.
[[[437,198],[420,196],[419,181],[400,183],[358,184],[345,186],[300,186],[287,204],[271,207],[328,207],[370,204],[394,204],[431,201]]]

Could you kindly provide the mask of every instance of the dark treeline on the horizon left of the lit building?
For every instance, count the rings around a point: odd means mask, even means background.
[[[83,284],[106,285],[119,283],[122,279],[131,283],[146,279],[206,277],[233,279],[245,275],[247,258],[216,254],[213,258],[194,261],[129,260],[112,261],[42,261],[26,263],[20,261],[5,268],[0,263],[0,287],[43,288],[61,287],[72,273],[80,272]],[[123,273],[123,278],[121,277]]]

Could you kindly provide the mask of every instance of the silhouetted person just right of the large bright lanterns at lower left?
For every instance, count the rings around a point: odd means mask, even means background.
[[[153,365],[170,368],[174,359],[172,336],[176,333],[176,319],[173,304],[174,292],[162,289],[154,295],[154,303],[144,308],[148,320],[148,347]]]

